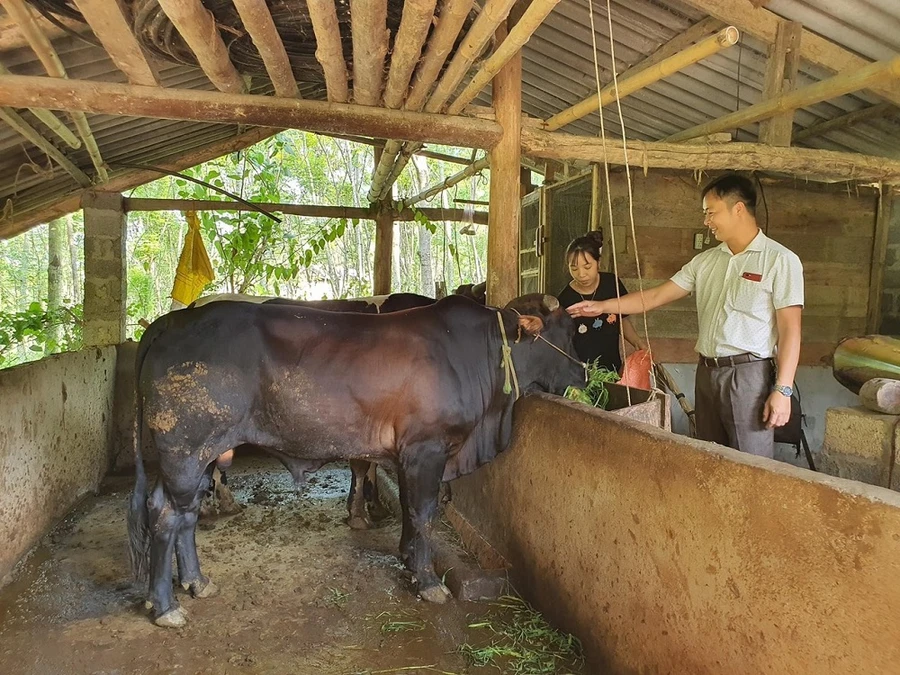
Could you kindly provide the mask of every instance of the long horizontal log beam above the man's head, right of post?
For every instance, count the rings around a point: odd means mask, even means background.
[[[522,129],[522,151],[530,157],[558,161],[584,160],[624,164],[620,141],[561,132]],[[628,142],[628,163],[632,167],[721,169],[790,173],[808,180],[900,183],[900,160],[854,152],[834,152],[811,148],[778,148],[760,143],[667,143]]]

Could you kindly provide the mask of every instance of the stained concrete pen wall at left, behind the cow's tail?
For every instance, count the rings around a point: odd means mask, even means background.
[[[114,347],[0,370],[0,585],[112,456]]]

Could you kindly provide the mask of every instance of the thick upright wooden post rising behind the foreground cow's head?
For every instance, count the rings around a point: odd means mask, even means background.
[[[497,30],[502,41],[506,29]],[[494,77],[494,110],[503,128],[491,150],[491,201],[488,207],[487,301],[502,307],[519,286],[519,166],[522,131],[522,54],[513,56]]]

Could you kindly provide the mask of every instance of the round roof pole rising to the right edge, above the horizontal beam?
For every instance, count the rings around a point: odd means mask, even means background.
[[[757,103],[749,108],[738,110],[711,122],[698,124],[695,127],[674,134],[666,140],[683,141],[704,134],[724,131],[725,129],[747,126],[753,122],[759,122],[788,110],[804,108],[813,103],[837,98],[860,89],[868,89],[873,84],[890,82],[898,77],[900,77],[900,56],[895,56],[888,61],[877,61],[860,68],[856,72],[835,75],[827,80],[795,89],[788,94],[782,94],[768,101]]]

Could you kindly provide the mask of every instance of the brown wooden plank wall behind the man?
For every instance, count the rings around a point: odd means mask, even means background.
[[[632,173],[634,224],[645,287],[670,278],[698,253],[693,248],[694,235],[706,233],[699,195],[702,183],[709,179],[704,175],[698,182],[689,172]],[[610,184],[614,231],[608,227],[609,213],[604,209],[604,234],[610,250],[615,235],[619,276],[634,291],[638,280],[624,173],[613,174]],[[764,179],[762,186],[765,201],[760,199],[757,206],[760,226],[803,261],[806,307],[801,363],[820,364],[842,337],[865,333],[877,193],[872,188],[848,189],[846,184],[776,179]],[[711,238],[704,249],[716,245]],[[693,298],[650,312],[647,323],[656,360],[687,363],[696,359]],[[640,319],[638,328],[643,332]]]

